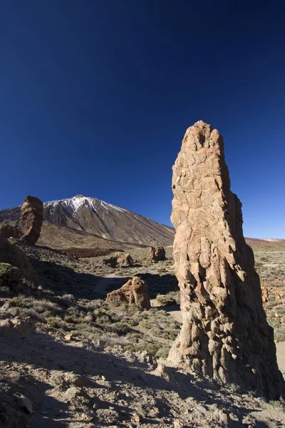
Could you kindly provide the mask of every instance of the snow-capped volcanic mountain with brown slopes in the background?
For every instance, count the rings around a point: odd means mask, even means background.
[[[20,207],[0,210],[0,223],[16,224]],[[103,200],[77,195],[43,204],[38,245],[51,248],[128,248],[172,245],[174,230]]]

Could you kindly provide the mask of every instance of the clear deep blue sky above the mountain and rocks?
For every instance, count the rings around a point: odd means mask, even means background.
[[[1,1],[0,208],[82,193],[170,224],[203,120],[244,234],[285,238],[284,22],[283,1]]]

